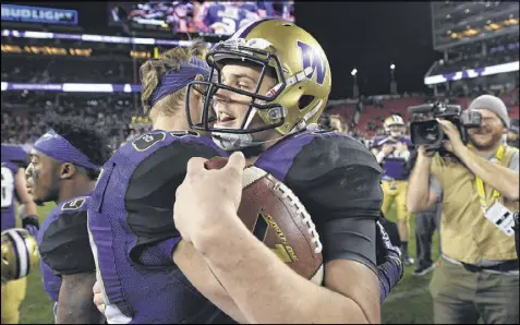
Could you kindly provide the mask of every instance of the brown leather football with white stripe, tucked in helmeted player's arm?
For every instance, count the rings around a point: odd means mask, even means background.
[[[228,158],[206,161],[220,169]],[[294,193],[265,170],[247,166],[238,215],[253,234],[299,275],[322,285],[322,242],[311,216]]]

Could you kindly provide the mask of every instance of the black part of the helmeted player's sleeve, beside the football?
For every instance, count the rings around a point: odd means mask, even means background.
[[[383,191],[376,159],[361,143],[341,139],[318,139],[302,154],[310,155],[306,161],[313,162],[303,167],[312,169],[293,167],[286,181],[316,224],[324,263],[354,260],[377,274],[376,221]]]

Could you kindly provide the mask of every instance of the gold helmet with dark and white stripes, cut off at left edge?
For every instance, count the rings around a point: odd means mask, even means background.
[[[36,240],[27,230],[13,228],[2,231],[2,281],[26,277],[39,262]]]

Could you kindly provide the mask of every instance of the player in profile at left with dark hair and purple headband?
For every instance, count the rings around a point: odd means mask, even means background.
[[[55,301],[57,324],[104,321],[93,303],[96,276],[86,212],[109,154],[101,134],[65,118],[55,119],[31,151],[28,191],[35,201],[57,204],[37,238],[44,288]]]

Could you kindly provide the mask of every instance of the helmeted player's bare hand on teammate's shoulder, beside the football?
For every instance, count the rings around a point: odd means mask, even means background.
[[[197,249],[205,233],[218,232],[235,216],[242,198],[242,178],[245,158],[233,153],[221,169],[207,170],[207,159],[188,161],[186,177],[176,192],[173,221],[182,238]]]

